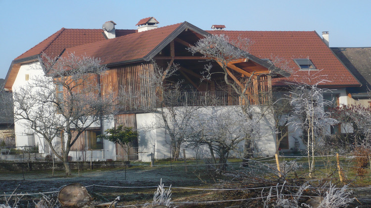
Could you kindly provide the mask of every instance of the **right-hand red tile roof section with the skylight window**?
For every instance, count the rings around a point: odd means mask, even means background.
[[[249,53],[259,58],[274,57],[288,60],[288,66],[294,69],[294,74],[288,78],[274,79],[274,85],[286,85],[294,79],[301,81],[301,77],[308,75],[308,70],[299,70],[299,66],[292,60],[293,58],[308,58],[319,70],[317,75],[327,75],[323,77],[331,82],[323,84],[328,86],[357,86],[358,80],[349,70],[337,59],[333,52],[325,45],[322,38],[316,31],[226,31],[212,30],[207,31],[211,34],[225,34],[231,40],[248,38],[253,44],[249,48]],[[278,66],[279,67],[279,66]],[[322,69],[322,70],[321,70]],[[312,73],[313,74],[313,73]],[[313,80],[313,82],[318,79]]]

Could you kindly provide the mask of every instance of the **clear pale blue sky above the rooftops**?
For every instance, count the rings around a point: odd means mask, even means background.
[[[371,47],[371,0],[0,0],[0,78],[11,61],[62,27],[136,29],[153,16],[209,30],[329,31],[330,47]]]

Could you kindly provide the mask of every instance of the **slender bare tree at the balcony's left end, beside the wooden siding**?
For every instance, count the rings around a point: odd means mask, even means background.
[[[152,94],[156,95],[156,100],[149,110],[154,112],[159,122],[147,124],[146,128],[148,130],[165,129],[166,135],[169,136],[165,142],[170,146],[173,160],[178,160],[182,144],[192,132],[190,123],[193,114],[202,105],[192,105],[187,102],[186,92],[182,89],[182,80],[171,81],[170,78],[176,77],[178,65],[171,62],[163,68],[155,61],[152,61],[152,65],[153,70],[149,70],[150,75],[142,78],[149,79]]]

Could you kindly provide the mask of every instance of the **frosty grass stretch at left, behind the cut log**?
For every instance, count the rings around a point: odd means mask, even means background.
[[[93,169],[80,171],[80,176],[76,170],[72,177],[64,176],[63,171],[54,172],[51,176],[51,170],[46,171],[24,171],[22,172],[4,172],[0,178],[1,193],[11,194],[15,188],[16,193],[45,193],[55,191],[62,186],[71,183],[81,183],[88,186],[89,193],[101,202],[113,201],[117,196],[121,197],[121,204],[142,204],[151,202],[156,186],[160,180],[165,186],[173,187],[210,187],[214,181],[200,180],[194,172],[194,168],[188,168],[185,172],[184,167],[161,166],[149,167],[148,165],[132,166],[115,169]],[[24,179],[23,179],[24,174]],[[111,186],[99,187],[92,185]],[[114,187],[148,187],[148,188],[112,188]],[[173,198],[181,198],[192,194],[202,194],[204,191],[184,191],[173,189]],[[26,201],[37,199],[35,196],[24,197],[23,205]],[[0,204],[4,198],[1,197]],[[32,203],[32,201],[31,201]],[[33,203],[32,203],[33,205]]]

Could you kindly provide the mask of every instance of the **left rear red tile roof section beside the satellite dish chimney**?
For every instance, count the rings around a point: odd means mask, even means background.
[[[106,40],[101,29],[65,29],[49,36],[43,42],[15,58],[15,60],[45,52],[50,57],[60,55],[64,49]]]

